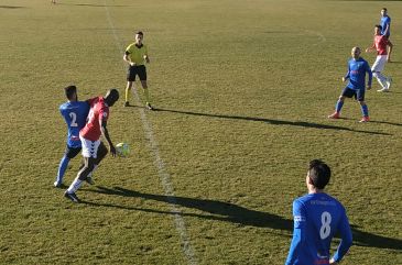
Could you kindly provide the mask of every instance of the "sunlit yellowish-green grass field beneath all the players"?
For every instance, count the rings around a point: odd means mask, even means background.
[[[392,91],[328,120],[352,46],[382,7]],[[354,246],[345,265],[402,264],[402,24],[399,1],[0,0],[0,264],[283,264],[309,159],[334,176]],[[53,187],[65,147],[62,88],[119,88],[144,31],[149,86],[111,108],[115,143],[73,205]],[[363,54],[372,64],[374,54]],[[138,84],[137,84],[138,85]],[[70,162],[70,184],[79,158]]]

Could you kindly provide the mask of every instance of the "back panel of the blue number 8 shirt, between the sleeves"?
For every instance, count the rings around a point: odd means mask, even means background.
[[[330,241],[346,218],[345,208],[324,192],[306,195],[297,201],[305,212],[306,258],[313,258],[314,264],[323,264],[329,260]]]

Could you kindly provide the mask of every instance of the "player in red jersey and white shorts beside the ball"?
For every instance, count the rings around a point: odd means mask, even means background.
[[[79,132],[79,139],[83,145],[84,167],[78,172],[77,177],[72,185],[65,191],[64,196],[70,199],[73,202],[79,202],[76,191],[88,177],[88,174],[94,170],[95,165],[99,165],[100,159],[98,157],[98,148],[106,148],[100,142],[100,135],[104,135],[109,144],[109,151],[112,156],[116,156],[116,148],[110,140],[109,132],[107,130],[107,121],[109,118],[109,107],[112,107],[119,99],[119,91],[117,89],[110,89],[105,98],[96,97],[89,99],[90,110],[86,125]]]

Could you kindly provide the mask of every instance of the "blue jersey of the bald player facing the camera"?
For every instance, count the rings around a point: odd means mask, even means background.
[[[367,85],[371,87],[372,73],[367,60],[361,57],[358,59],[351,58],[348,62],[348,73],[345,76],[345,79],[349,79],[347,87],[354,90],[365,89],[366,73],[369,74],[369,81]]]

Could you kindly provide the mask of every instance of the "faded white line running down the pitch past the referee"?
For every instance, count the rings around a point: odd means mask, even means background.
[[[116,46],[119,51],[119,54],[122,55],[123,51],[122,51],[122,45],[121,42],[118,37],[118,35],[116,34],[116,30],[115,30],[115,24],[111,20],[111,15],[107,5],[107,0],[105,0],[105,10],[106,10],[106,14],[107,14],[107,19],[109,22],[109,26],[113,33],[113,38],[115,38],[115,43]],[[126,64],[123,64],[123,70],[126,71]],[[135,98],[135,103],[140,103],[140,97],[138,95],[138,91],[134,89],[134,98]],[[167,173],[166,170],[166,166],[165,163],[163,162],[163,159],[161,158],[160,155],[160,151],[157,147],[157,142],[153,135],[153,131],[152,131],[152,126],[146,118],[145,111],[143,109],[139,109],[140,111],[140,115],[141,115],[141,121],[142,121],[142,125],[143,125],[143,130],[145,133],[145,137],[149,139],[149,143],[150,143],[150,148],[152,151],[153,157],[154,157],[154,165],[157,168],[157,174],[159,177],[162,181],[162,186],[165,192],[165,196],[167,197],[167,201],[171,203],[171,212],[174,216],[174,222],[175,222],[175,227],[176,230],[181,236],[182,240],[182,244],[183,244],[183,252],[187,258],[188,264],[191,265],[196,265],[197,258],[195,256],[195,253],[193,251],[193,247],[191,245],[191,240],[187,233],[187,229],[184,222],[184,219],[182,217],[182,211],[181,209],[177,207],[177,201],[174,197],[174,188],[173,188],[173,184],[171,180],[171,175]]]

